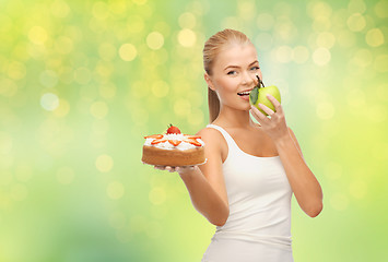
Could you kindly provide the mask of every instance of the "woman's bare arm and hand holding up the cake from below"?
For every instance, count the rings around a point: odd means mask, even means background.
[[[202,130],[201,135],[205,143],[204,153],[207,163],[193,167],[162,167],[169,171],[177,171],[185,182],[190,194],[191,203],[196,210],[216,226],[225,224],[230,210],[224,178],[222,175],[222,157],[220,143],[215,130]]]

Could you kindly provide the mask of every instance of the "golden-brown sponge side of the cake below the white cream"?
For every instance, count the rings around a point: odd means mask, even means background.
[[[204,147],[191,150],[161,150],[155,146],[143,146],[142,162],[155,166],[192,166],[204,163]]]

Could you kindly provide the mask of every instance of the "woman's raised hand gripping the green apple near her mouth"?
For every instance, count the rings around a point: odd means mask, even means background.
[[[273,140],[289,135],[287,124],[285,123],[285,117],[283,108],[280,103],[272,95],[268,94],[267,98],[272,103],[275,108],[275,111],[269,107],[259,104],[261,110],[268,114],[269,117],[264,116],[259,109],[255,106],[251,106],[251,115],[260,122],[262,130]]]

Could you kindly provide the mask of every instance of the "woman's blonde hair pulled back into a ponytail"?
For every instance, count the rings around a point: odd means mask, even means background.
[[[217,55],[223,48],[231,44],[251,44],[249,38],[239,31],[224,29],[212,35],[203,47],[203,68],[204,71],[212,75],[212,67]],[[213,122],[220,114],[220,99],[217,94],[208,87],[208,104],[209,104],[209,118]]]

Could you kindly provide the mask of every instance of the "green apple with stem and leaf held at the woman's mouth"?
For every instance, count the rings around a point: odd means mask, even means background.
[[[270,85],[264,86],[262,81],[260,80],[259,75],[256,75],[257,80],[259,81],[257,86],[250,91],[249,94],[249,103],[254,105],[257,109],[259,109],[262,114],[268,116],[267,112],[261,110],[259,107],[259,103],[266,105],[267,107],[271,108],[273,111],[277,111],[272,103],[267,98],[267,94],[272,95],[279,103],[281,103],[280,92],[277,86]],[[262,85],[262,86],[261,86]]]

